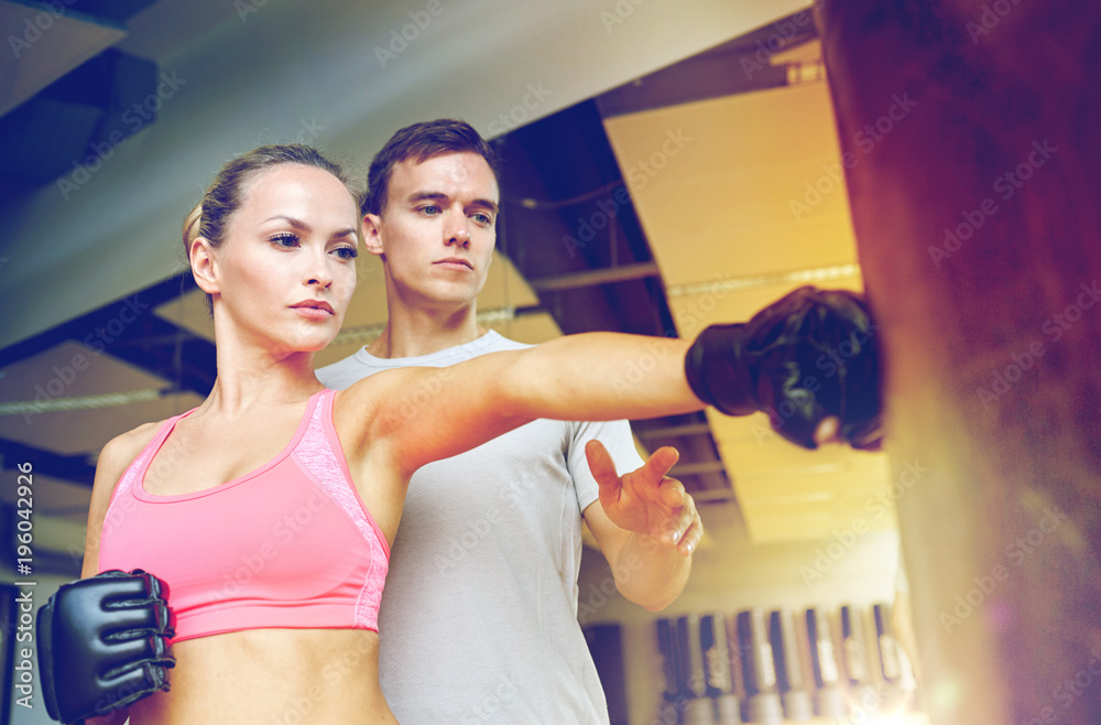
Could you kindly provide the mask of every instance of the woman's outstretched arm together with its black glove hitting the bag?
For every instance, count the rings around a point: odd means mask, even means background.
[[[359,445],[389,451],[407,474],[537,418],[643,419],[705,404],[730,415],[766,412],[781,435],[808,448],[824,428],[853,447],[875,448],[876,333],[859,296],[805,286],[694,342],[570,335],[450,368],[386,371],[346,392],[360,416]]]

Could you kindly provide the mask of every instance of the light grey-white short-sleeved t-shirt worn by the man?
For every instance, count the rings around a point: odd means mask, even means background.
[[[317,377],[342,389],[524,347],[491,331],[419,357],[360,348]],[[625,421],[537,420],[414,474],[379,615],[382,690],[404,725],[608,722],[577,621],[581,511],[598,498],[590,439],[621,474],[642,465]]]

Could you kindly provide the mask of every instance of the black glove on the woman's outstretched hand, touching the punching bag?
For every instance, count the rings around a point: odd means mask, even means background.
[[[882,439],[880,356],[864,302],[843,290],[803,286],[748,323],[712,325],[685,358],[696,397],[728,415],[761,410],[776,432],[806,448],[839,419],[840,437],[876,450]]]

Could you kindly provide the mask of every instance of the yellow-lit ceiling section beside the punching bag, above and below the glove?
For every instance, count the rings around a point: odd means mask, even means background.
[[[728,67],[754,73],[742,57]],[[749,320],[803,284],[862,290],[819,43],[768,62],[786,67],[785,85],[604,121],[620,165],[640,172],[628,188],[683,337]],[[826,538],[857,519],[894,526],[868,510],[889,479],[885,454],[804,451],[763,413],[707,420],[754,541]]]

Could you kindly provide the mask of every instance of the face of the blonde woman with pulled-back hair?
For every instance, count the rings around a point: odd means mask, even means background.
[[[215,324],[277,357],[324,348],[356,290],[359,212],[336,176],[282,164],[246,183],[215,252]]]

